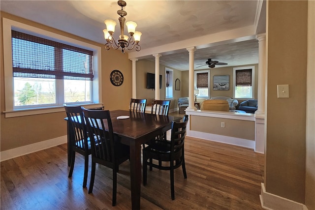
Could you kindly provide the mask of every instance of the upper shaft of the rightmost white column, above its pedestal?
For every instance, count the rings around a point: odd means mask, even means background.
[[[257,115],[265,114],[265,60],[266,60],[266,34],[256,36],[258,40],[258,109]]]

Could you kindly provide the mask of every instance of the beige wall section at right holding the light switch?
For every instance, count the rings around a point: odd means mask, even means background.
[[[307,1],[267,2],[266,191],[305,203]],[[292,61],[298,61],[294,64]],[[277,98],[277,85],[289,98]]]

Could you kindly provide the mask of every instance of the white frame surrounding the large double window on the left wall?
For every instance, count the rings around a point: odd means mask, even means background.
[[[85,43],[73,38],[69,38],[51,31],[42,30],[27,24],[23,24],[17,21],[2,18],[2,37],[3,37],[3,64],[4,64],[4,98],[5,98],[5,117],[19,117],[28,115],[37,115],[53,112],[62,112],[64,108],[62,105],[57,106],[43,106],[36,108],[26,108],[14,110],[14,90],[13,90],[13,70],[12,70],[12,36],[11,30],[17,30],[31,35],[39,36],[42,38],[50,39],[53,41],[61,42],[64,44],[72,45],[75,47],[84,48],[93,51],[93,69],[94,78],[92,83],[91,98],[92,103],[80,104],[96,105],[101,104],[101,47],[95,46],[89,43]],[[57,96],[58,97],[58,96]]]

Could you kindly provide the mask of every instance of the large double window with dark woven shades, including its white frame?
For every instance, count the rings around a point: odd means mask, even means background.
[[[6,117],[101,101],[100,47],[5,18],[2,22]]]

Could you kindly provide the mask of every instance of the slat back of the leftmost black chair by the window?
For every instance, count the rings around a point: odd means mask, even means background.
[[[74,138],[71,138],[71,145],[82,150],[88,149],[87,129],[83,118],[81,106],[66,106],[63,105],[66,112],[70,129]]]

